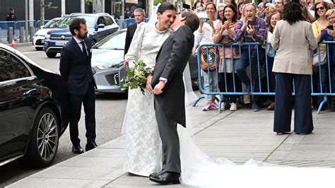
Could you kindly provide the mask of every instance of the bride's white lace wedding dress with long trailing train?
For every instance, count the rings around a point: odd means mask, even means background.
[[[155,56],[164,40],[172,33],[155,30],[154,22],[139,25],[125,59],[129,62],[143,59],[154,66]],[[141,23],[142,24],[142,23]],[[144,27],[146,26],[146,27]],[[141,33],[140,33],[141,31]],[[143,40],[145,38],[145,40]],[[134,44],[134,45],[133,45]],[[334,187],[334,168],[294,168],[249,160],[235,165],[225,158],[213,160],[201,151],[192,139],[191,104],[197,96],[192,90],[189,66],[184,71],[186,129],[178,126],[180,137],[180,182],[192,187]],[[122,133],[126,134],[126,162],[124,170],[148,176],[159,172],[162,166],[162,143],[153,107],[153,95],[139,89],[129,90],[127,110]]]

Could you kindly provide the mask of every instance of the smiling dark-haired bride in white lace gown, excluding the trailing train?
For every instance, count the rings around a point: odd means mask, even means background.
[[[157,10],[158,21],[140,23],[134,33],[125,60],[129,66],[143,60],[148,66],[155,66],[155,57],[160,46],[172,34],[170,25],[176,17],[176,8],[163,3]],[[157,20],[157,19],[153,19]],[[153,108],[153,95],[146,90],[129,90],[127,109],[124,115],[122,133],[126,134],[126,159],[124,170],[135,175],[149,176],[162,168],[162,143]]]

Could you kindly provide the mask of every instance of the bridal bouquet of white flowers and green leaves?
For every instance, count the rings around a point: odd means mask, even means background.
[[[122,79],[124,81],[123,90],[139,88],[144,95],[146,77],[152,72],[153,69],[147,67],[142,59],[134,63],[134,67],[127,67],[127,75]]]

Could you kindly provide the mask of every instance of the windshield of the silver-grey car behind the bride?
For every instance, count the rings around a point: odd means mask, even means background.
[[[116,33],[106,37],[99,42],[94,48],[98,49],[124,49],[127,32],[125,30],[117,31]]]

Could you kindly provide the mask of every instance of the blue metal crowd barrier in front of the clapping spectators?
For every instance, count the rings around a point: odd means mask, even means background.
[[[312,85],[312,93],[311,95],[312,96],[323,96],[324,97],[324,100],[321,102],[321,104],[319,105],[319,109],[317,110],[317,113],[320,113],[321,109],[322,109],[322,105],[324,105],[325,102],[327,102],[327,96],[334,96],[335,97],[335,86],[331,86],[331,81],[333,81],[335,83],[335,72],[331,72],[331,68],[335,66],[335,64],[332,64],[331,62],[331,53],[332,52],[329,52],[330,51],[330,46],[329,45],[335,45],[335,42],[320,42],[319,44],[326,44],[327,45],[327,64],[324,64],[322,66],[327,66],[328,67],[328,83],[329,83],[329,86],[328,86],[328,90],[322,90],[322,87],[319,88],[319,91],[315,91],[315,88],[313,88],[313,84],[311,82],[311,85]],[[272,74],[272,72],[269,72],[269,66],[268,66],[268,46],[270,44],[266,44],[265,45],[265,49],[263,49],[261,47],[261,44],[258,43],[258,42],[245,42],[245,43],[242,43],[242,46],[247,46],[247,52],[248,52],[248,56],[249,56],[249,81],[250,81],[250,88],[251,88],[251,92],[249,93],[249,95],[276,95],[275,92],[271,92],[271,87],[270,87],[270,82],[269,82],[269,75]],[[231,57],[233,57],[233,47],[238,47],[238,50],[239,50],[239,54],[240,54],[240,57],[241,57],[241,54],[242,54],[242,46],[240,45],[237,45],[237,43],[233,43],[233,44],[229,44],[229,45],[221,45],[221,44],[205,44],[205,45],[201,45],[198,47],[197,49],[197,58],[198,58],[198,76],[199,76],[199,91],[200,93],[202,94],[205,94],[205,95],[220,95],[221,98],[218,99],[216,98],[216,100],[218,100],[218,110],[219,112],[221,112],[221,102],[223,102],[223,95],[244,95],[246,93],[244,93],[242,90],[237,90],[236,88],[236,76],[237,74],[235,74],[235,67],[234,67],[234,61],[236,59],[233,59],[232,58],[232,62],[231,62],[231,66],[232,66],[232,74],[233,74],[233,90],[228,90],[228,83],[227,83],[227,69],[226,69],[226,64],[225,64],[225,58],[221,59],[221,57],[219,58],[220,61],[223,61],[223,64],[225,65],[225,69],[224,69],[224,72],[221,73],[221,76],[223,74],[224,76],[224,84],[225,84],[225,91],[221,91],[220,88],[219,88],[219,81],[218,81],[218,69],[220,67],[218,67],[218,64],[215,63],[215,69],[212,69],[210,71],[210,64],[213,65],[213,61],[215,61],[218,56],[220,56],[220,54],[218,54],[218,48],[221,48],[223,49],[223,57],[225,57],[225,48],[229,47],[230,48],[230,52],[231,52]],[[254,47],[254,50],[251,49],[251,47]],[[207,70],[206,71],[203,71],[201,69],[201,49],[203,50],[203,54],[206,55],[207,59],[202,59],[203,62],[206,61],[207,63]],[[204,49],[206,50],[204,52]],[[209,52],[210,50],[213,51],[214,49],[214,52]],[[264,54],[264,61],[261,61],[262,59],[260,59],[260,53],[262,52],[261,50],[263,50],[263,52],[265,52]],[[254,59],[254,62],[252,62],[252,59],[254,57],[252,57],[252,53],[256,53],[256,60]],[[319,52],[318,52],[319,54]],[[208,58],[209,57],[209,58]],[[333,57],[335,58],[335,57]],[[319,59],[320,59],[320,55],[319,55]],[[324,69],[322,68],[321,65],[319,65],[319,85],[322,86],[322,71],[321,69]],[[256,67],[257,69],[254,69],[254,67]],[[254,69],[254,70],[253,70]],[[263,69],[263,72],[265,71],[265,74],[266,74],[266,78],[261,78],[261,73],[262,73],[262,70]],[[265,69],[265,70],[264,70]],[[335,70],[335,68],[333,68]],[[256,71],[256,73],[255,73]],[[270,70],[271,71],[271,70]],[[204,80],[205,80],[205,76],[204,74],[207,74],[207,80],[208,80],[208,90],[205,90],[204,88]],[[215,78],[214,78],[214,82],[216,83],[215,86],[216,87],[211,87],[211,78],[210,78],[210,74],[212,74]],[[253,76],[257,74],[258,77],[256,78],[253,78]],[[261,87],[261,81],[264,81],[266,80],[266,88],[262,88]],[[312,79],[311,79],[312,80]],[[257,84],[257,83],[258,84]],[[256,84],[259,86],[259,88],[254,88],[254,86],[256,86]],[[254,86],[253,86],[254,85]],[[294,87],[294,83],[293,83],[293,93],[292,95],[295,95],[295,87]],[[200,96],[193,104],[193,106],[195,106],[199,100],[203,99],[204,98],[204,95]]]

